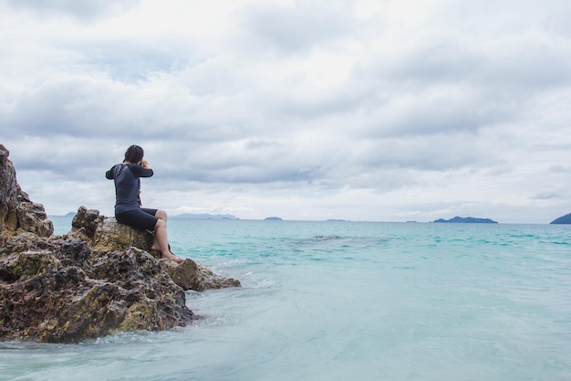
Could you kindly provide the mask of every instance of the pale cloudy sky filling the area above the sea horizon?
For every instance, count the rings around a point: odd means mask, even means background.
[[[48,215],[549,223],[571,212],[568,0],[0,0],[0,143]]]

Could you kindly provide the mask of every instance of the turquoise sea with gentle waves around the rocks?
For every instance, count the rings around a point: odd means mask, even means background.
[[[51,217],[56,234],[70,217]],[[1,380],[569,381],[571,226],[169,220],[241,288],[202,318],[80,344],[0,342]]]

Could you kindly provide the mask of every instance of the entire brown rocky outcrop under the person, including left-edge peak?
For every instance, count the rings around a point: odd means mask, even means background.
[[[53,236],[0,144],[0,339],[76,343],[134,330],[183,327],[197,317],[184,290],[239,286],[192,259],[156,259],[152,235],[80,207]]]

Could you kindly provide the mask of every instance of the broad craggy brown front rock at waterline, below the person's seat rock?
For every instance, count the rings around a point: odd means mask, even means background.
[[[0,248],[0,338],[73,343],[194,318],[182,288],[145,251],[89,254],[78,238],[8,238]]]

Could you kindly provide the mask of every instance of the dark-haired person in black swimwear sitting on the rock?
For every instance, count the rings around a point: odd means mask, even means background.
[[[105,173],[109,180],[115,180],[115,218],[121,224],[133,228],[154,230],[155,238],[151,250],[161,253],[162,258],[182,262],[171,253],[167,238],[167,213],[160,209],[141,207],[140,177],[153,175],[151,166],[143,158],[139,145],[131,145],[125,153],[125,160],[115,164]]]

